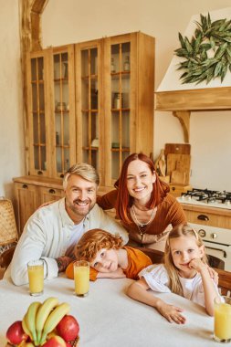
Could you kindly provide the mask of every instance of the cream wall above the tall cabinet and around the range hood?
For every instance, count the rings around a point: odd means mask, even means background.
[[[155,89],[179,47],[191,16],[230,6],[230,0],[49,0],[42,17],[43,45],[58,46],[139,31],[156,37]],[[231,111],[191,114],[194,187],[231,191]],[[154,156],[166,142],[184,142],[179,121],[155,112]]]

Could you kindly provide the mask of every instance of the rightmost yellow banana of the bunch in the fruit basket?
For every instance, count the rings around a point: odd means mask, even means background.
[[[42,334],[42,338],[40,340],[40,344],[43,344],[46,341],[47,334],[56,328],[56,326],[58,325],[58,322],[61,321],[61,319],[66,314],[68,314],[69,310],[70,310],[70,306],[69,306],[68,302],[63,302],[63,303],[59,304],[55,308],[55,310],[53,310],[49,314],[47,321],[44,324],[43,334]]]

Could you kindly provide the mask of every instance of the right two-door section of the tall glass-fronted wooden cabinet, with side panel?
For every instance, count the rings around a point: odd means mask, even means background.
[[[154,38],[142,33],[77,44],[77,158],[112,186],[131,152],[153,151]]]

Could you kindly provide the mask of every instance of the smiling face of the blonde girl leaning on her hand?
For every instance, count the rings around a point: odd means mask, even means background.
[[[194,273],[194,268],[189,268],[189,263],[194,258],[203,258],[205,247],[198,247],[194,237],[176,237],[170,239],[170,249],[173,257],[173,263],[185,276]]]

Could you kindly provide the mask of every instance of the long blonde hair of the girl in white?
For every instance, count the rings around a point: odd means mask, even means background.
[[[178,268],[174,266],[171,247],[170,247],[170,240],[173,238],[178,238],[178,237],[194,237],[196,240],[196,245],[198,247],[203,246],[203,240],[199,236],[199,234],[194,230],[194,228],[186,224],[173,227],[173,230],[170,231],[168,238],[166,240],[165,250],[164,250],[164,265],[170,279],[169,288],[171,289],[173,293],[183,296],[183,289],[182,289],[182,285],[181,285],[181,282],[179,279],[179,273],[178,273],[179,270]],[[202,258],[202,261],[205,264],[207,263],[207,258],[205,254]]]

